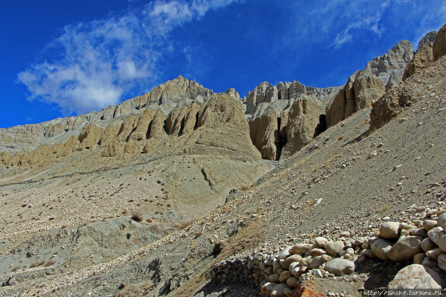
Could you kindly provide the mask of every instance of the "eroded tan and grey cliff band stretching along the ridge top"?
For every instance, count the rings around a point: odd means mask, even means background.
[[[432,36],[429,33],[420,43],[429,46]],[[406,75],[412,75],[430,61],[423,55],[430,50],[423,49],[407,66]],[[184,145],[187,145],[184,152],[213,147],[224,154],[283,160],[327,127],[378,100],[385,90],[401,80],[412,55],[410,43],[401,41],[385,55],[369,61],[366,69],[353,73],[344,86],[315,88],[298,81],[273,86],[262,82],[243,98],[235,89],[228,89],[225,97],[179,76],[147,94],[100,112],[1,129],[1,162],[5,166],[23,166],[44,163],[74,151],[96,149],[102,157],[156,150],[174,153],[175,148]],[[218,109],[229,108],[227,111],[232,113],[229,119],[224,119],[228,122],[219,137],[205,132],[220,129],[217,127],[220,118],[213,119],[218,113],[209,114],[210,107],[206,108],[208,104],[216,104],[215,100]],[[237,112],[234,104],[240,107]],[[234,129],[229,131],[229,126]],[[247,130],[250,139],[238,133]],[[197,143],[187,144],[183,141],[187,137]],[[231,147],[224,140],[210,141],[212,137],[238,141]]]

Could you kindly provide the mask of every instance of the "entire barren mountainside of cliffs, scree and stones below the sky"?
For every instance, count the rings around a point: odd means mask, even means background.
[[[2,129],[0,296],[445,288],[446,26],[422,41],[339,87],[180,76]]]

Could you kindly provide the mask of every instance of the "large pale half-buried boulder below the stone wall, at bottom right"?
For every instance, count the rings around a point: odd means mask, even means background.
[[[441,289],[442,280],[437,272],[419,264],[404,267],[388,283],[388,289]]]

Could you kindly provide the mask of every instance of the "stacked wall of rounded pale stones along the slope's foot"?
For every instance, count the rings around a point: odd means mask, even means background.
[[[279,254],[244,253],[214,265],[214,281],[244,281],[260,287],[271,297],[292,296],[300,280],[335,277],[355,271],[355,262],[368,258],[413,261],[426,269],[446,271],[446,209],[416,210],[406,222],[386,221],[373,236],[307,238],[307,242],[287,245]]]

